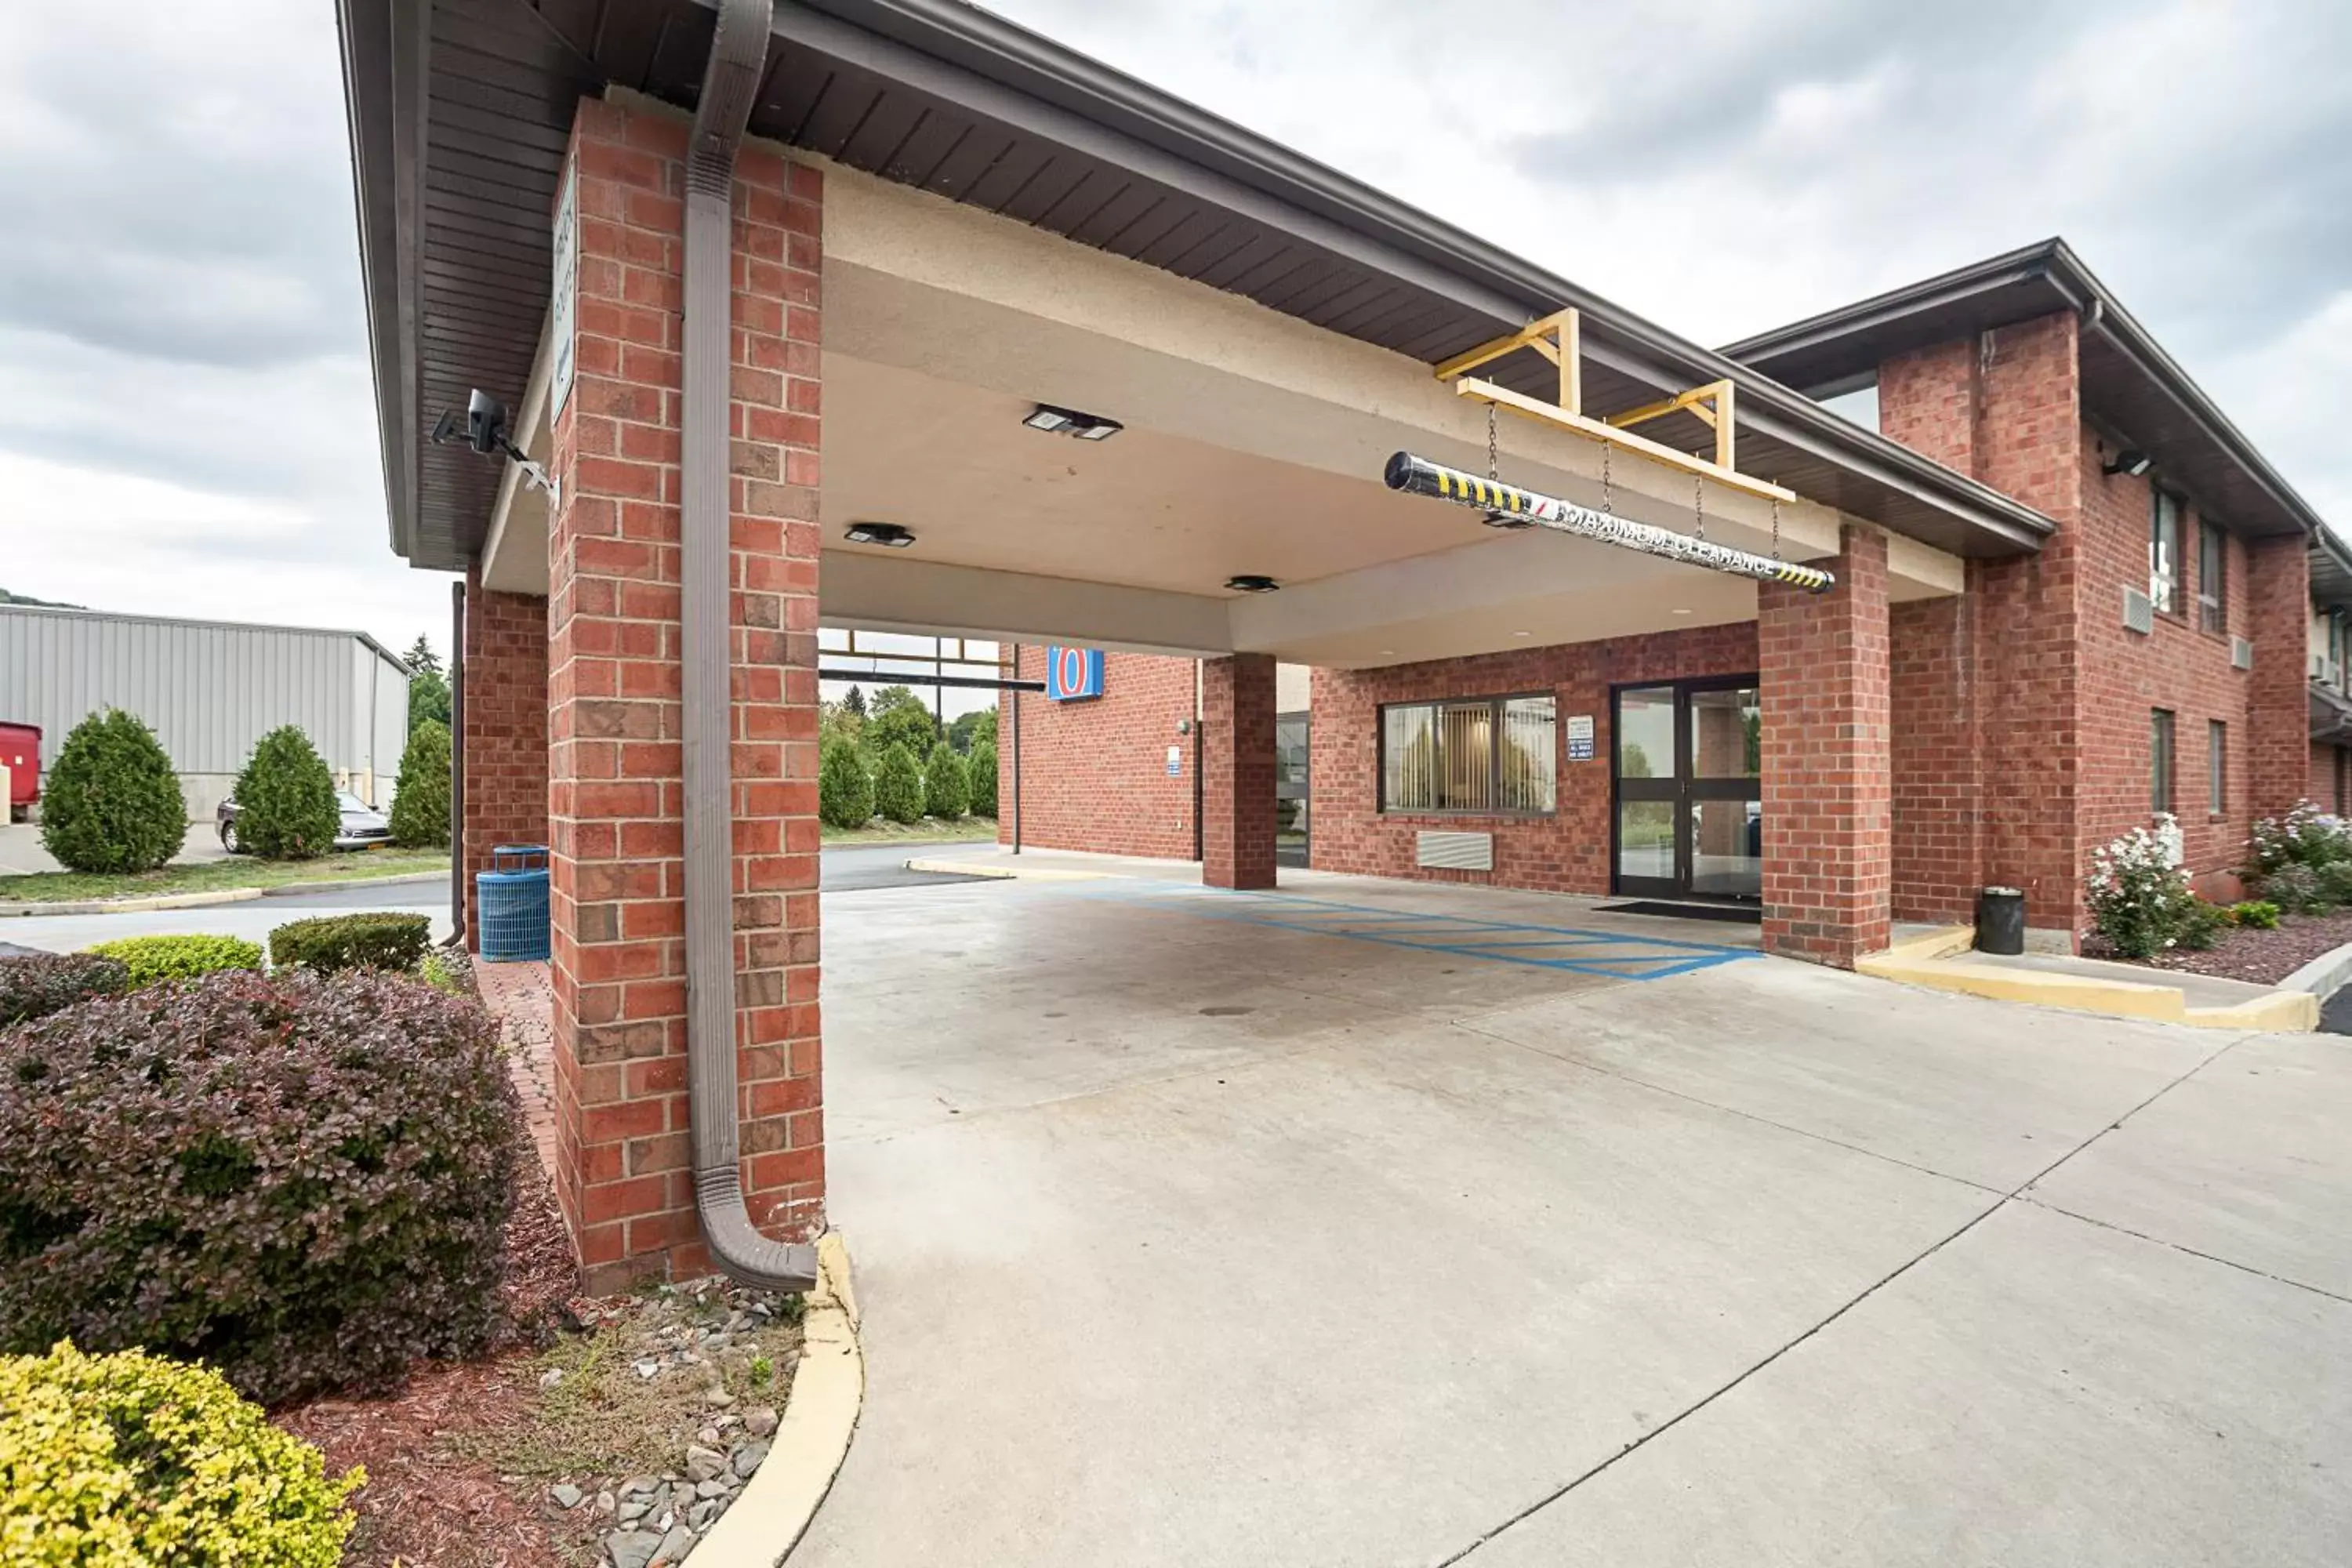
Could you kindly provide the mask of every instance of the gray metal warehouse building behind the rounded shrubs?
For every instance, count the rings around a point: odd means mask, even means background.
[[[205,820],[254,741],[301,724],[339,785],[390,806],[409,668],[367,632],[0,604],[0,722],[40,724],[42,759],[99,708],[155,731]]]

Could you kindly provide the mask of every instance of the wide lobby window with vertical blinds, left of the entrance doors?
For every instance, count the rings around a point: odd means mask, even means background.
[[[1381,811],[1538,816],[1557,802],[1559,701],[1395,703],[1381,710]]]

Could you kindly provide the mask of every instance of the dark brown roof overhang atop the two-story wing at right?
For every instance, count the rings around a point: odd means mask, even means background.
[[[1830,388],[1886,360],[2072,310],[2082,322],[2082,404],[2169,484],[2249,538],[2319,536],[2324,524],[2187,371],[2133,320],[2065,240],[2044,240],[1724,353],[1788,386]]]

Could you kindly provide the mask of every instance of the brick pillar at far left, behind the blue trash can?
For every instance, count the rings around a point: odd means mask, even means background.
[[[548,602],[466,574],[466,947],[482,950],[473,875],[499,844],[548,842]]]

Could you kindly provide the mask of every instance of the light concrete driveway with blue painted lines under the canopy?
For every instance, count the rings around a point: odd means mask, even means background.
[[[795,1566],[2347,1561],[2338,1039],[1284,891],[828,893]]]

